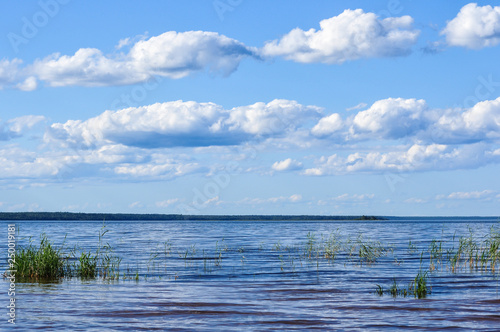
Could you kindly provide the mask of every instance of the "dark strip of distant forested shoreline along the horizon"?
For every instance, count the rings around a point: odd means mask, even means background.
[[[308,215],[184,215],[131,213],[72,213],[72,212],[0,212],[0,220],[201,220],[201,221],[301,221],[301,220],[386,220],[375,216],[308,216]]]

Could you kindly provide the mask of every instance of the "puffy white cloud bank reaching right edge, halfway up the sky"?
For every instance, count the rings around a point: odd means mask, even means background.
[[[312,128],[336,142],[406,139],[426,144],[471,144],[500,139],[500,97],[462,109],[432,109],[425,100],[387,98],[342,119],[327,115]]]

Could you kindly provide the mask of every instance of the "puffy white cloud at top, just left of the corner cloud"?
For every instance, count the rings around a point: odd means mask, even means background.
[[[279,40],[265,44],[262,54],[297,62],[340,64],[372,57],[403,56],[411,53],[419,31],[410,16],[379,19],[362,9],[347,9],[322,20],[320,29],[295,28]]]

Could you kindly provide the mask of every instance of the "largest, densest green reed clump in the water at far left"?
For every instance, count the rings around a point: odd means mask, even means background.
[[[16,276],[29,279],[56,279],[69,276],[71,271],[61,248],[56,248],[45,234],[40,236],[40,245],[31,241],[16,253]]]

